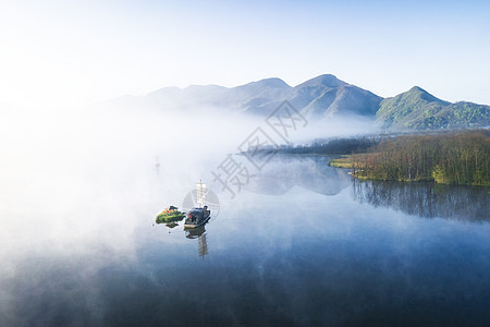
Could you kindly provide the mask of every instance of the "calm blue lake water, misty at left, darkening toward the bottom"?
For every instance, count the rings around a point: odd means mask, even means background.
[[[219,193],[195,238],[133,198],[103,210],[121,220],[85,210],[89,228],[12,241],[0,325],[490,324],[487,189],[356,182],[324,164],[270,162],[236,198]]]

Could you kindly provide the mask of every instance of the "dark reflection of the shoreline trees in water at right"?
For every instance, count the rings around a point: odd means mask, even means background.
[[[394,208],[424,218],[490,220],[490,196],[486,187],[353,179],[353,196],[360,203]]]

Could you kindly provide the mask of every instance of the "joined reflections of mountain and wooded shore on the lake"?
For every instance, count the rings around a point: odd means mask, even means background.
[[[294,186],[338,195],[352,186],[354,199],[375,207],[401,210],[424,218],[490,221],[488,187],[427,182],[359,181],[346,169],[328,166],[330,157],[277,155],[262,171],[250,178],[247,191],[283,195]]]

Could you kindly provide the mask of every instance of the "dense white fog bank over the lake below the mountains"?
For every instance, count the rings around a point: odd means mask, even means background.
[[[108,210],[102,221],[110,225],[130,215],[121,203],[161,202],[155,190],[188,190],[209,167],[237,153],[255,129],[267,128],[264,118],[213,108],[168,112],[113,104],[65,110],[3,106],[0,116],[0,233],[3,243],[24,245],[32,233],[37,234],[33,242],[40,243],[75,242],[77,235],[99,239],[91,228],[101,222],[100,210]],[[352,124],[308,122],[290,136],[291,142],[307,142],[352,133]],[[161,180],[156,184],[157,160]],[[124,229],[131,230],[127,225]]]

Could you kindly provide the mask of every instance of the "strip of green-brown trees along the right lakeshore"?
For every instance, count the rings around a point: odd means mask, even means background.
[[[329,165],[359,179],[490,186],[490,131],[399,136]]]

